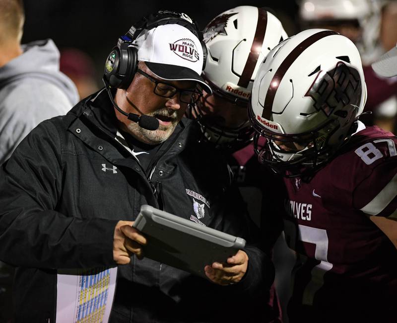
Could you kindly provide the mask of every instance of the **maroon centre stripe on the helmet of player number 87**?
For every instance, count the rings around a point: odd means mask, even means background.
[[[303,53],[308,47],[313,45],[316,41],[321,38],[331,36],[331,35],[339,35],[335,31],[331,30],[324,30],[311,35],[310,37],[306,38],[303,42],[301,42],[298,46],[296,46],[291,53],[284,59],[281,65],[278,67],[276,73],[273,76],[273,79],[270,81],[269,88],[267,89],[265,103],[264,103],[264,111],[262,113],[262,118],[267,120],[270,119],[271,114],[271,107],[273,106],[274,97],[276,95],[278,85],[280,85],[280,81],[284,77],[285,73],[287,73],[288,69],[295,62],[299,55]]]

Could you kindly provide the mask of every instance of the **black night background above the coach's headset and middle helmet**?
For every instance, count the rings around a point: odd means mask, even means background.
[[[185,12],[202,29],[219,13],[239,5],[270,8],[286,32],[297,31],[295,0],[287,1],[133,1],[133,0],[24,0],[25,26],[22,43],[52,38],[58,48],[78,48],[95,63],[98,81],[107,54],[131,25],[158,9]]]

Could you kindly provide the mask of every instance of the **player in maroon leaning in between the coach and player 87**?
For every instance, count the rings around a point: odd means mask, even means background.
[[[238,6],[218,14],[203,30],[208,54],[202,76],[213,94],[204,91],[201,100],[189,110],[189,117],[199,123],[201,140],[227,157],[250,216],[264,232],[267,252],[273,248],[281,231],[274,234],[269,221],[283,211],[283,201],[277,198],[282,196],[279,190],[283,189],[283,183],[272,170],[258,163],[247,107],[259,65],[267,53],[287,37],[281,22],[265,9]],[[283,296],[281,305],[286,305],[290,272],[287,270],[285,275],[282,272],[286,262],[292,266],[294,256],[282,238],[279,244],[281,247],[276,256],[281,261],[275,263],[275,283]],[[258,322],[281,322],[274,286],[264,293],[258,299],[257,308],[262,320]]]

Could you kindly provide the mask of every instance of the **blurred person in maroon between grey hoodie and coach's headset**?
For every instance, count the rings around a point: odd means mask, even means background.
[[[77,48],[61,50],[60,70],[76,85],[80,99],[98,90],[94,63],[86,53]]]

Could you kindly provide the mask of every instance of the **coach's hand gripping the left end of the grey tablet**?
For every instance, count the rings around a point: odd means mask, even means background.
[[[118,265],[130,263],[130,257],[135,254],[138,259],[143,258],[142,245],[146,238],[132,228],[133,221],[119,221],[113,236],[113,259]]]

